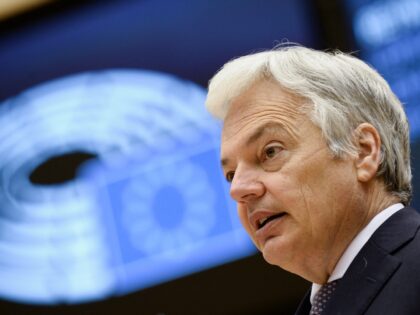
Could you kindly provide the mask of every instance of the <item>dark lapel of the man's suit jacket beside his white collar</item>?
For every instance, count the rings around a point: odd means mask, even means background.
[[[412,209],[403,209],[389,218],[340,279],[324,314],[363,314],[401,264],[392,253],[409,242],[419,226],[419,215]]]

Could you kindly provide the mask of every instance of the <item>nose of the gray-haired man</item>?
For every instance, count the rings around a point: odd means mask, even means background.
[[[230,195],[237,202],[250,202],[265,193],[265,187],[257,176],[257,171],[237,167],[230,186]]]

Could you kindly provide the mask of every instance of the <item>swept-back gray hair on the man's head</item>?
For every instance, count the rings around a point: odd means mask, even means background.
[[[353,135],[363,122],[381,137],[377,177],[404,204],[411,199],[409,127],[403,106],[388,83],[363,61],[339,51],[284,46],[234,59],[211,79],[207,109],[224,119],[233,98],[262,79],[312,105],[309,117],[337,158],[357,153]]]

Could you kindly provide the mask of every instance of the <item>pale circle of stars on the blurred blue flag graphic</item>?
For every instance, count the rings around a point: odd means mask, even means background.
[[[204,170],[186,161],[130,181],[122,193],[122,216],[131,243],[149,255],[182,255],[214,227],[214,197]]]

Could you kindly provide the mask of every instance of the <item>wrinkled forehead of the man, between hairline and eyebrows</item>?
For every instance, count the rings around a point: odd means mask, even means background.
[[[306,104],[272,80],[259,81],[232,101],[223,124],[222,146],[232,137],[264,130],[261,126],[273,123],[295,136],[297,123],[308,119]]]

